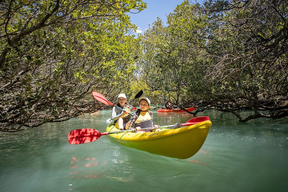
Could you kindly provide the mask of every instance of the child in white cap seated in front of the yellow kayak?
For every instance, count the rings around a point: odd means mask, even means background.
[[[151,132],[152,130],[145,130],[141,131],[141,128],[151,128],[154,127],[155,129],[159,128],[159,125],[154,125],[153,123],[153,115],[150,109],[150,100],[147,97],[140,97],[139,98],[139,107],[134,113],[131,123],[128,129],[137,129],[137,133],[139,132]]]

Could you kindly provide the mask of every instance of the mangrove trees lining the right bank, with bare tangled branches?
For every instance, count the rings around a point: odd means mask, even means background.
[[[288,116],[287,1],[184,1],[144,33],[139,81],[179,107]],[[252,109],[248,117],[241,109]]]

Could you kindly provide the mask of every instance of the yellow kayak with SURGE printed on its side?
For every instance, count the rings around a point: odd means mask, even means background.
[[[127,147],[166,157],[187,159],[202,147],[211,125],[211,121],[203,121],[178,129],[161,128],[161,131],[157,132],[123,132],[109,136]],[[113,132],[119,129],[114,127],[114,123],[110,123],[106,131]]]

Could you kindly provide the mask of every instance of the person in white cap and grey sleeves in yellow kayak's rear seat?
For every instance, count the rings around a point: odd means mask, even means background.
[[[112,121],[115,123],[115,127],[120,130],[128,130],[128,126],[130,123],[130,115],[128,113],[131,113],[130,111],[130,105],[127,103],[127,98],[124,93],[120,93],[118,95],[118,107],[121,107],[125,110],[125,112],[121,111],[117,107],[113,107],[112,110]]]

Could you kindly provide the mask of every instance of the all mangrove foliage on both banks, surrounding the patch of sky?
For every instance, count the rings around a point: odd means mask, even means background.
[[[215,107],[239,121],[288,116],[287,1],[184,1],[138,38],[141,0],[0,0],[0,131],[65,121],[125,92]],[[137,102],[134,103],[137,105]],[[252,109],[242,117],[239,111]],[[24,127],[24,128],[23,128]]]

